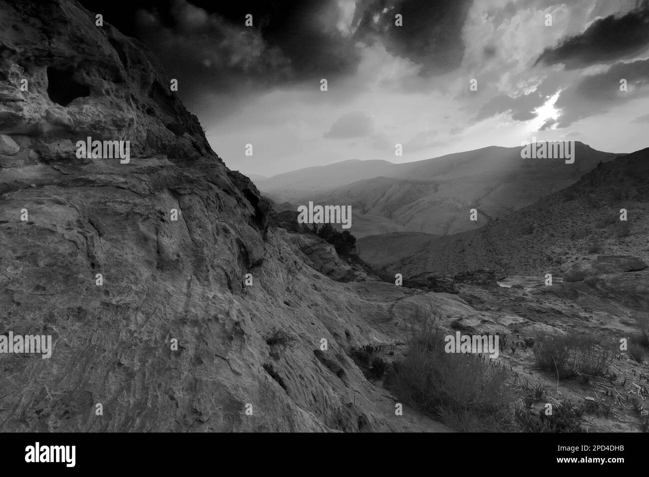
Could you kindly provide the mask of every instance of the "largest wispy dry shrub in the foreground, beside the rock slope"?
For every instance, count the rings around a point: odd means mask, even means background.
[[[418,310],[408,323],[408,351],[395,361],[386,386],[422,412],[459,431],[509,430],[509,373],[473,354],[445,352],[440,313]]]

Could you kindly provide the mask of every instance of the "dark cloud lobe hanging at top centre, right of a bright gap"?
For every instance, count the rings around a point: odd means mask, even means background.
[[[473,0],[358,0],[355,37],[381,41],[389,53],[421,65],[424,76],[440,75],[462,62],[462,27],[472,4]],[[397,14],[402,15],[400,27],[395,26]]]

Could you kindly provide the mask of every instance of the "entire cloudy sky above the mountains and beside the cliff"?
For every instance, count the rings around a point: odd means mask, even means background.
[[[649,146],[649,0],[81,3],[160,58],[247,175],[533,138]]]

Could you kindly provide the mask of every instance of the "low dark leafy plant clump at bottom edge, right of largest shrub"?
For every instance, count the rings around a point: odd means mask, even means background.
[[[515,415],[524,432],[583,432],[580,424],[582,411],[574,408],[569,400],[552,406],[550,415],[546,415],[545,409],[526,408],[517,408]]]

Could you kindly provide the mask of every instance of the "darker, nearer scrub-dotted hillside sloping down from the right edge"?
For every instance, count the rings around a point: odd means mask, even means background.
[[[627,221],[620,221],[625,209]],[[478,230],[452,236],[386,234],[358,240],[374,267],[404,276],[478,268],[560,274],[598,255],[649,260],[649,148],[598,165],[578,182]]]

